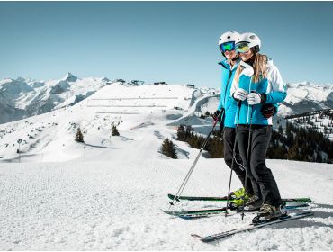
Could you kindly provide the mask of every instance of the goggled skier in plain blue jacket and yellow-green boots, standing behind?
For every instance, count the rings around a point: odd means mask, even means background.
[[[220,86],[220,103],[218,105],[218,109],[214,112],[213,118],[217,120],[219,114],[221,115],[221,127],[224,127],[223,130],[223,143],[224,143],[224,161],[225,163],[235,171],[236,175],[238,175],[239,180],[243,184],[247,184],[246,193],[247,195],[253,195],[257,192],[254,190],[257,189],[257,185],[255,189],[252,187],[251,181],[247,181],[245,183],[246,171],[245,167],[242,165],[241,157],[239,156],[239,151],[237,148],[236,139],[236,130],[235,130],[235,115],[237,112],[237,106],[233,103],[233,99],[230,97],[230,89],[232,85],[232,81],[234,79],[236,69],[238,68],[238,63],[240,61],[238,57],[238,53],[235,49],[235,42],[239,38],[239,33],[236,31],[227,31],[220,36],[219,47],[220,51],[225,58],[220,61],[220,66],[222,68],[221,73],[221,86]],[[265,111],[263,111],[263,116],[271,117],[275,112],[274,106],[267,107]],[[240,198],[244,194],[244,189],[240,188],[232,193],[230,193],[230,197]],[[233,201],[234,206],[238,206],[242,201]]]

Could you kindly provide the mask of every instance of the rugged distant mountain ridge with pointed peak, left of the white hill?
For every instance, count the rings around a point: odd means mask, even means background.
[[[80,79],[71,73],[48,81],[5,78],[0,80],[0,123],[74,105],[109,84],[106,77]]]

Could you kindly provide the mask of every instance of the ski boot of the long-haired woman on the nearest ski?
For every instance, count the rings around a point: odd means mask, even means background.
[[[269,203],[264,203],[257,216],[252,220],[252,223],[266,222],[269,220],[276,220],[286,216],[284,205],[274,206]]]

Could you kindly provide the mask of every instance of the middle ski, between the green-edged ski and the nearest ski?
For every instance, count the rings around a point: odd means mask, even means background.
[[[284,209],[287,211],[292,210],[300,210],[304,207],[309,207],[309,204],[307,203],[298,203],[293,205],[286,205],[284,206]],[[230,209],[228,209],[229,211]],[[164,210],[162,210],[164,211]],[[166,214],[173,215],[176,217],[180,217],[185,220],[191,220],[191,219],[199,219],[199,218],[205,218],[205,217],[211,217],[216,215],[225,214],[227,211],[226,207],[223,208],[215,208],[215,209],[200,209],[200,210],[193,210],[193,211],[164,211]],[[239,212],[237,210],[230,210],[231,212]],[[246,212],[256,212],[256,211],[246,211]]]

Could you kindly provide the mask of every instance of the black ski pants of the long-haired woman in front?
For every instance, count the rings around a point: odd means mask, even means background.
[[[281,196],[272,171],[266,166],[266,152],[272,137],[272,126],[252,125],[249,159],[247,160],[247,146],[249,137],[249,126],[238,125],[238,148],[240,157],[247,164],[247,176],[251,184],[259,185],[257,196],[264,202],[272,205],[282,203]],[[247,162],[248,161],[248,162]]]

